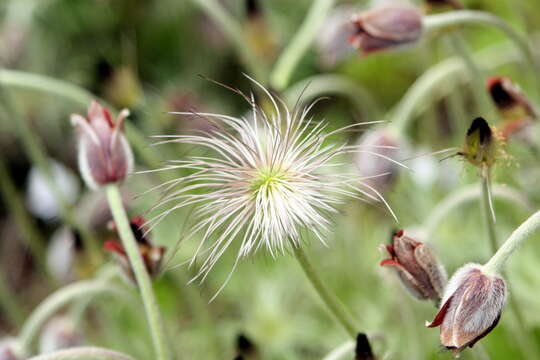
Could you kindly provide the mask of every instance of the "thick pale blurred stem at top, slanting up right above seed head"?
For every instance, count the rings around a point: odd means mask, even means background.
[[[276,62],[274,70],[270,74],[270,84],[276,90],[281,91],[287,88],[294,68],[309,49],[313,39],[315,39],[328,12],[332,9],[334,1],[314,0],[312,2],[306,19],[289,45],[283,50]]]

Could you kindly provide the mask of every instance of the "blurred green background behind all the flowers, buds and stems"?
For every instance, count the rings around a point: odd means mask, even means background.
[[[130,109],[126,132],[136,170],[143,171],[198,151],[175,144],[152,147],[152,135],[188,134],[212,126],[201,118],[167,112],[207,111],[240,117],[249,110],[240,96],[213,81],[249,93],[253,83],[243,76],[246,73],[291,106],[303,89],[301,102],[328,97],[312,114],[328,121],[331,130],[361,121],[391,123],[406,111],[402,106],[410,98],[411,86],[433,80],[433,72],[438,71],[439,80],[416,103],[407,126],[399,132],[379,126],[377,131],[346,132],[338,139],[400,147],[387,155],[411,170],[369,156],[351,158],[350,164],[362,174],[391,173],[372,186],[384,193],[399,223],[381,203],[348,201],[334,218],[329,246],[312,241],[306,251],[354,314],[359,330],[368,334],[380,358],[452,357],[441,351],[438,330],[424,326],[435,314],[433,304],[413,299],[392,271],[379,267],[385,255],[378,245],[388,243],[395,229],[405,228],[431,244],[449,274],[465,263],[489,259],[477,169],[459,157],[441,161],[443,155],[432,153],[450,147],[456,150],[448,154],[457,152],[478,115],[492,125],[500,123],[497,116],[489,117],[494,108],[487,93],[482,93],[486,77],[511,77],[537,103],[534,74],[519,61],[508,38],[489,26],[457,30],[460,44],[479,64],[484,77],[480,87],[456,53],[451,31],[425,34],[419,43],[404,49],[360,56],[347,43],[348,24],[354,13],[370,4],[336,1],[289,84],[273,88],[270,69],[298,31],[311,3],[1,0],[0,339],[16,336],[31,311],[55,289],[100,276],[104,266],[115,264],[101,249],[104,241],[116,236],[108,226],[110,214],[103,194],[88,190],[80,179],[69,122],[70,114],[86,112],[91,99],[100,99],[113,112]],[[452,11],[439,8],[433,4],[436,1],[429,3],[414,5],[425,14]],[[463,4],[500,16],[540,54],[536,36],[540,2],[470,0]],[[220,22],[223,13],[233,20],[233,30],[240,30],[240,38],[231,37],[228,23]],[[256,66],[246,66],[246,49],[255,57]],[[499,241],[540,203],[540,158],[534,150],[539,134],[534,124],[527,131],[527,141],[507,141],[506,156],[493,171]],[[179,175],[174,171],[132,175],[123,185],[130,215],[146,216],[156,194],[138,195]],[[457,201],[455,207],[452,201]],[[347,343],[347,334],[326,312],[288,254],[273,259],[261,251],[242,262],[224,291],[208,303],[231,271],[236,254],[227,252],[204,283],[188,285],[196,266],[180,264],[198,243],[196,239],[182,243],[174,252],[188,218],[187,211],[175,212],[150,235],[172,256],[155,286],[178,359],[233,359],[241,334],[256,344],[259,359],[268,360],[322,359]],[[85,234],[93,245],[83,241]],[[516,321],[510,310],[503,313],[500,325],[482,341],[491,359],[539,358],[533,355],[540,353],[539,253],[540,243],[531,239],[508,268],[511,292],[526,317]],[[97,297],[64,307],[58,318],[64,321],[56,324],[61,331],[51,325],[42,337],[56,331],[61,336],[69,334],[67,340],[62,339],[74,344],[96,344],[139,359],[152,358],[142,305],[137,301]],[[526,335],[516,335],[524,330]],[[525,336],[528,341],[523,343]],[[42,349],[47,349],[47,339],[42,342]],[[468,351],[463,357],[472,358]],[[352,351],[344,358],[352,359]]]

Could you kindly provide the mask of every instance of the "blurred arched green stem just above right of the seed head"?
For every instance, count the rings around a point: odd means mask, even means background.
[[[358,108],[359,112],[370,118],[379,116],[379,104],[371,94],[360,85],[341,75],[311,76],[288,88],[284,93],[284,98],[292,106],[298,102],[300,96],[302,96],[301,100],[308,101],[328,94],[346,97]]]

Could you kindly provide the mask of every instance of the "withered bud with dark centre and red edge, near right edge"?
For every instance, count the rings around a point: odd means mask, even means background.
[[[531,102],[510,78],[494,76],[487,80],[486,85],[503,119],[501,133],[505,138],[520,132],[536,120],[537,115]]]

